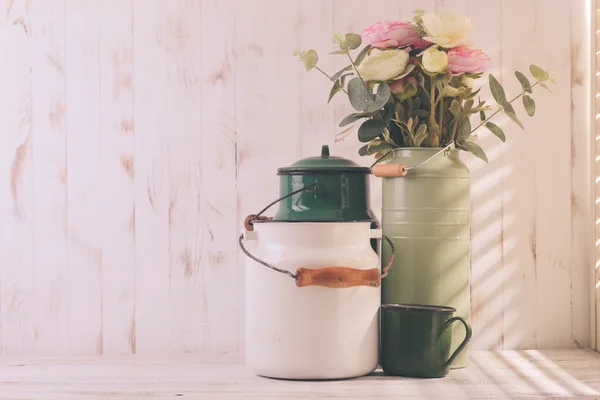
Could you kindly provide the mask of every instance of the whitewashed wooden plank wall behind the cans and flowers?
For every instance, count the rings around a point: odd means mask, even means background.
[[[577,3],[577,4],[576,4]],[[583,3],[582,3],[583,4]],[[460,12],[509,96],[556,75],[472,171],[475,349],[590,343],[589,130],[582,28],[560,0],[9,0],[0,10],[2,354],[243,354],[241,221],[276,168],[363,165],[330,73],[334,32],[412,10]],[[488,90],[482,98],[491,100]],[[588,175],[586,175],[588,171]],[[380,215],[381,184],[372,179]]]

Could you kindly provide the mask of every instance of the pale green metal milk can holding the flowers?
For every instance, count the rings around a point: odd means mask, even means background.
[[[396,257],[382,282],[381,302],[454,307],[455,315],[468,320],[469,170],[458,150],[440,148],[396,149],[381,168],[398,166],[405,176],[383,177],[382,228]],[[382,250],[387,259],[389,249]],[[464,327],[453,327],[451,351],[464,337]],[[467,363],[465,349],[453,368]]]

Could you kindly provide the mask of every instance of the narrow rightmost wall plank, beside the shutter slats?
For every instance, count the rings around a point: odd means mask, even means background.
[[[590,137],[591,26],[585,2],[571,2],[571,339],[590,345],[590,271],[594,270],[594,212]],[[590,294],[593,294],[590,293]]]

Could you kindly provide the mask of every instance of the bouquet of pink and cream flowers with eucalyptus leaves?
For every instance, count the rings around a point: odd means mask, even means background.
[[[536,65],[529,67],[533,82],[516,71],[522,91],[509,100],[502,85],[489,74],[497,103],[493,110],[478,98],[480,89],[474,89],[475,80],[490,67],[490,59],[467,41],[470,28],[467,17],[417,10],[411,22],[378,22],[362,35],[335,35],[337,49],[331,54],[347,57],[349,64],[333,75],[319,67],[315,50],[296,50],[294,54],[307,71],[319,71],[332,82],[329,101],[339,92],[348,96],[356,112],[339,126],[362,121],[358,140],[366,144],[360,155],[382,159],[395,148],[454,144],[487,162],[473,133],[486,127],[505,141],[503,130],[490,121],[500,112],[524,129],[513,103],[521,98],[527,115],[533,116],[533,88],[549,90],[547,82],[554,83],[554,79]],[[352,50],[362,45],[353,56]],[[471,121],[474,114],[479,116],[476,124]]]

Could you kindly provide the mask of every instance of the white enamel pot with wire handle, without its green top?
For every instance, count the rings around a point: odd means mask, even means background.
[[[248,225],[246,225],[248,226]],[[246,260],[246,364],[258,375],[335,379],[378,364],[380,262],[371,222],[253,220]]]

